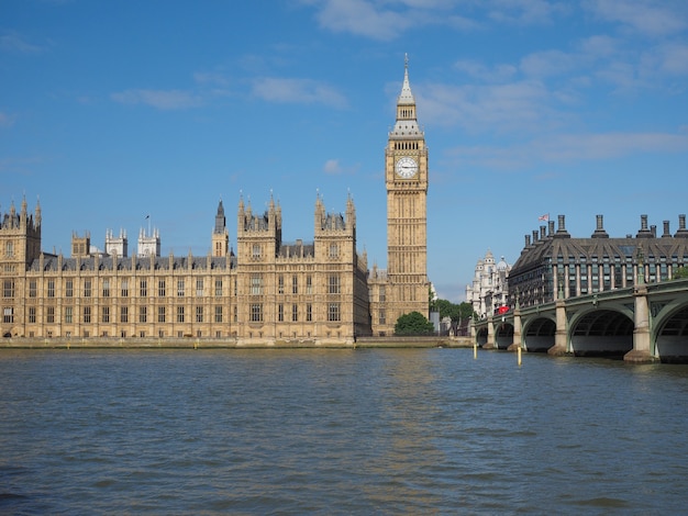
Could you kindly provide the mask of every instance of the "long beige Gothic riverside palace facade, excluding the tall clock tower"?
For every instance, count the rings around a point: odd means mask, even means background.
[[[370,334],[355,228],[352,199],[345,215],[318,199],[314,240],[286,244],[279,206],[255,214],[242,201],[236,256],[223,253],[226,228],[217,225],[203,257],[87,254],[89,238],[74,235],[65,258],[40,251],[41,209],[31,215],[23,201],[0,228],[1,333],[351,344]]]

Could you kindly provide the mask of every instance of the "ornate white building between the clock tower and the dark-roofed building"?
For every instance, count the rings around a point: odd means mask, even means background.
[[[495,263],[495,255],[488,249],[485,258],[476,263],[473,282],[466,285],[466,302],[473,304],[473,311],[481,317],[495,313],[507,304],[509,288],[507,280],[511,266],[502,256]]]

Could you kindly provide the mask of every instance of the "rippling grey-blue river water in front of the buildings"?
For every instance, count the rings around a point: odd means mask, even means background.
[[[688,366],[1,350],[0,514],[678,514]]]

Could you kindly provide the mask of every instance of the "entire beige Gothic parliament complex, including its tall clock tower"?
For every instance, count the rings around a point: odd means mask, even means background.
[[[108,231],[103,251],[73,234],[69,257],[42,250],[40,203],[0,213],[0,335],[3,338],[193,337],[236,345],[351,345],[391,336],[398,317],[428,316],[428,148],[408,61],[385,149],[387,269],[356,249],[353,199],[328,213],[315,199],[312,242],[281,239],[281,207],[263,213],[240,199],[236,253],[220,201],[207,256],[160,256],[157,232],[137,253]]]

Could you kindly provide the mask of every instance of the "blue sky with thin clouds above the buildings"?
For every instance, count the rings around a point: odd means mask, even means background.
[[[43,249],[102,248],[145,216],[163,255],[206,255],[218,201],[318,193],[386,267],[384,149],[409,55],[430,148],[429,276],[462,301],[540,215],[662,232],[688,212],[685,0],[2,0],[0,211],[40,198]]]

